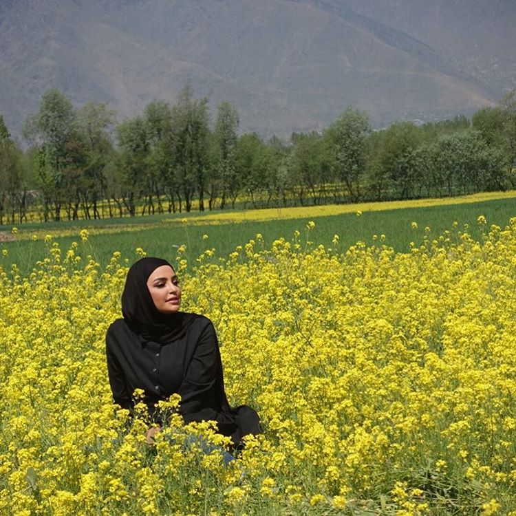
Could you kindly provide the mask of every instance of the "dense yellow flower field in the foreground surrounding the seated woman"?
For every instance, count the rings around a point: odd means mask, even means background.
[[[184,427],[177,396],[153,446],[142,403],[133,420],[112,404],[119,252],[101,267],[49,238],[27,277],[0,266],[0,513],[515,510],[516,219],[480,242],[425,234],[408,253],[299,236],[181,266],[183,309],[217,328],[230,403],[264,424],[228,466],[227,439]]]

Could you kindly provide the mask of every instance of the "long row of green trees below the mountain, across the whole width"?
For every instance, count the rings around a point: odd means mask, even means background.
[[[56,89],[25,123],[22,152],[0,117],[0,224],[208,208],[406,199],[503,190],[516,184],[516,90],[471,120],[372,131],[348,107],[324,131],[289,142],[239,136],[228,102],[215,120],[185,87],[118,125],[102,103],[78,109]],[[137,213],[138,212],[138,213]]]

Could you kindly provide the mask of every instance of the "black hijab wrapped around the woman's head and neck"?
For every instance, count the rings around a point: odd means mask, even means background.
[[[147,280],[155,269],[163,265],[173,270],[168,261],[153,257],[139,259],[129,268],[122,292],[122,315],[143,341],[166,344],[186,334],[195,314],[162,314],[155,308]]]

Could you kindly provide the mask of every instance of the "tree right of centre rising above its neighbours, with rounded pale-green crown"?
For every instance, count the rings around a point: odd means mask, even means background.
[[[352,200],[361,197],[361,175],[365,171],[369,120],[363,111],[347,107],[325,131],[330,144],[336,178],[344,182]]]

